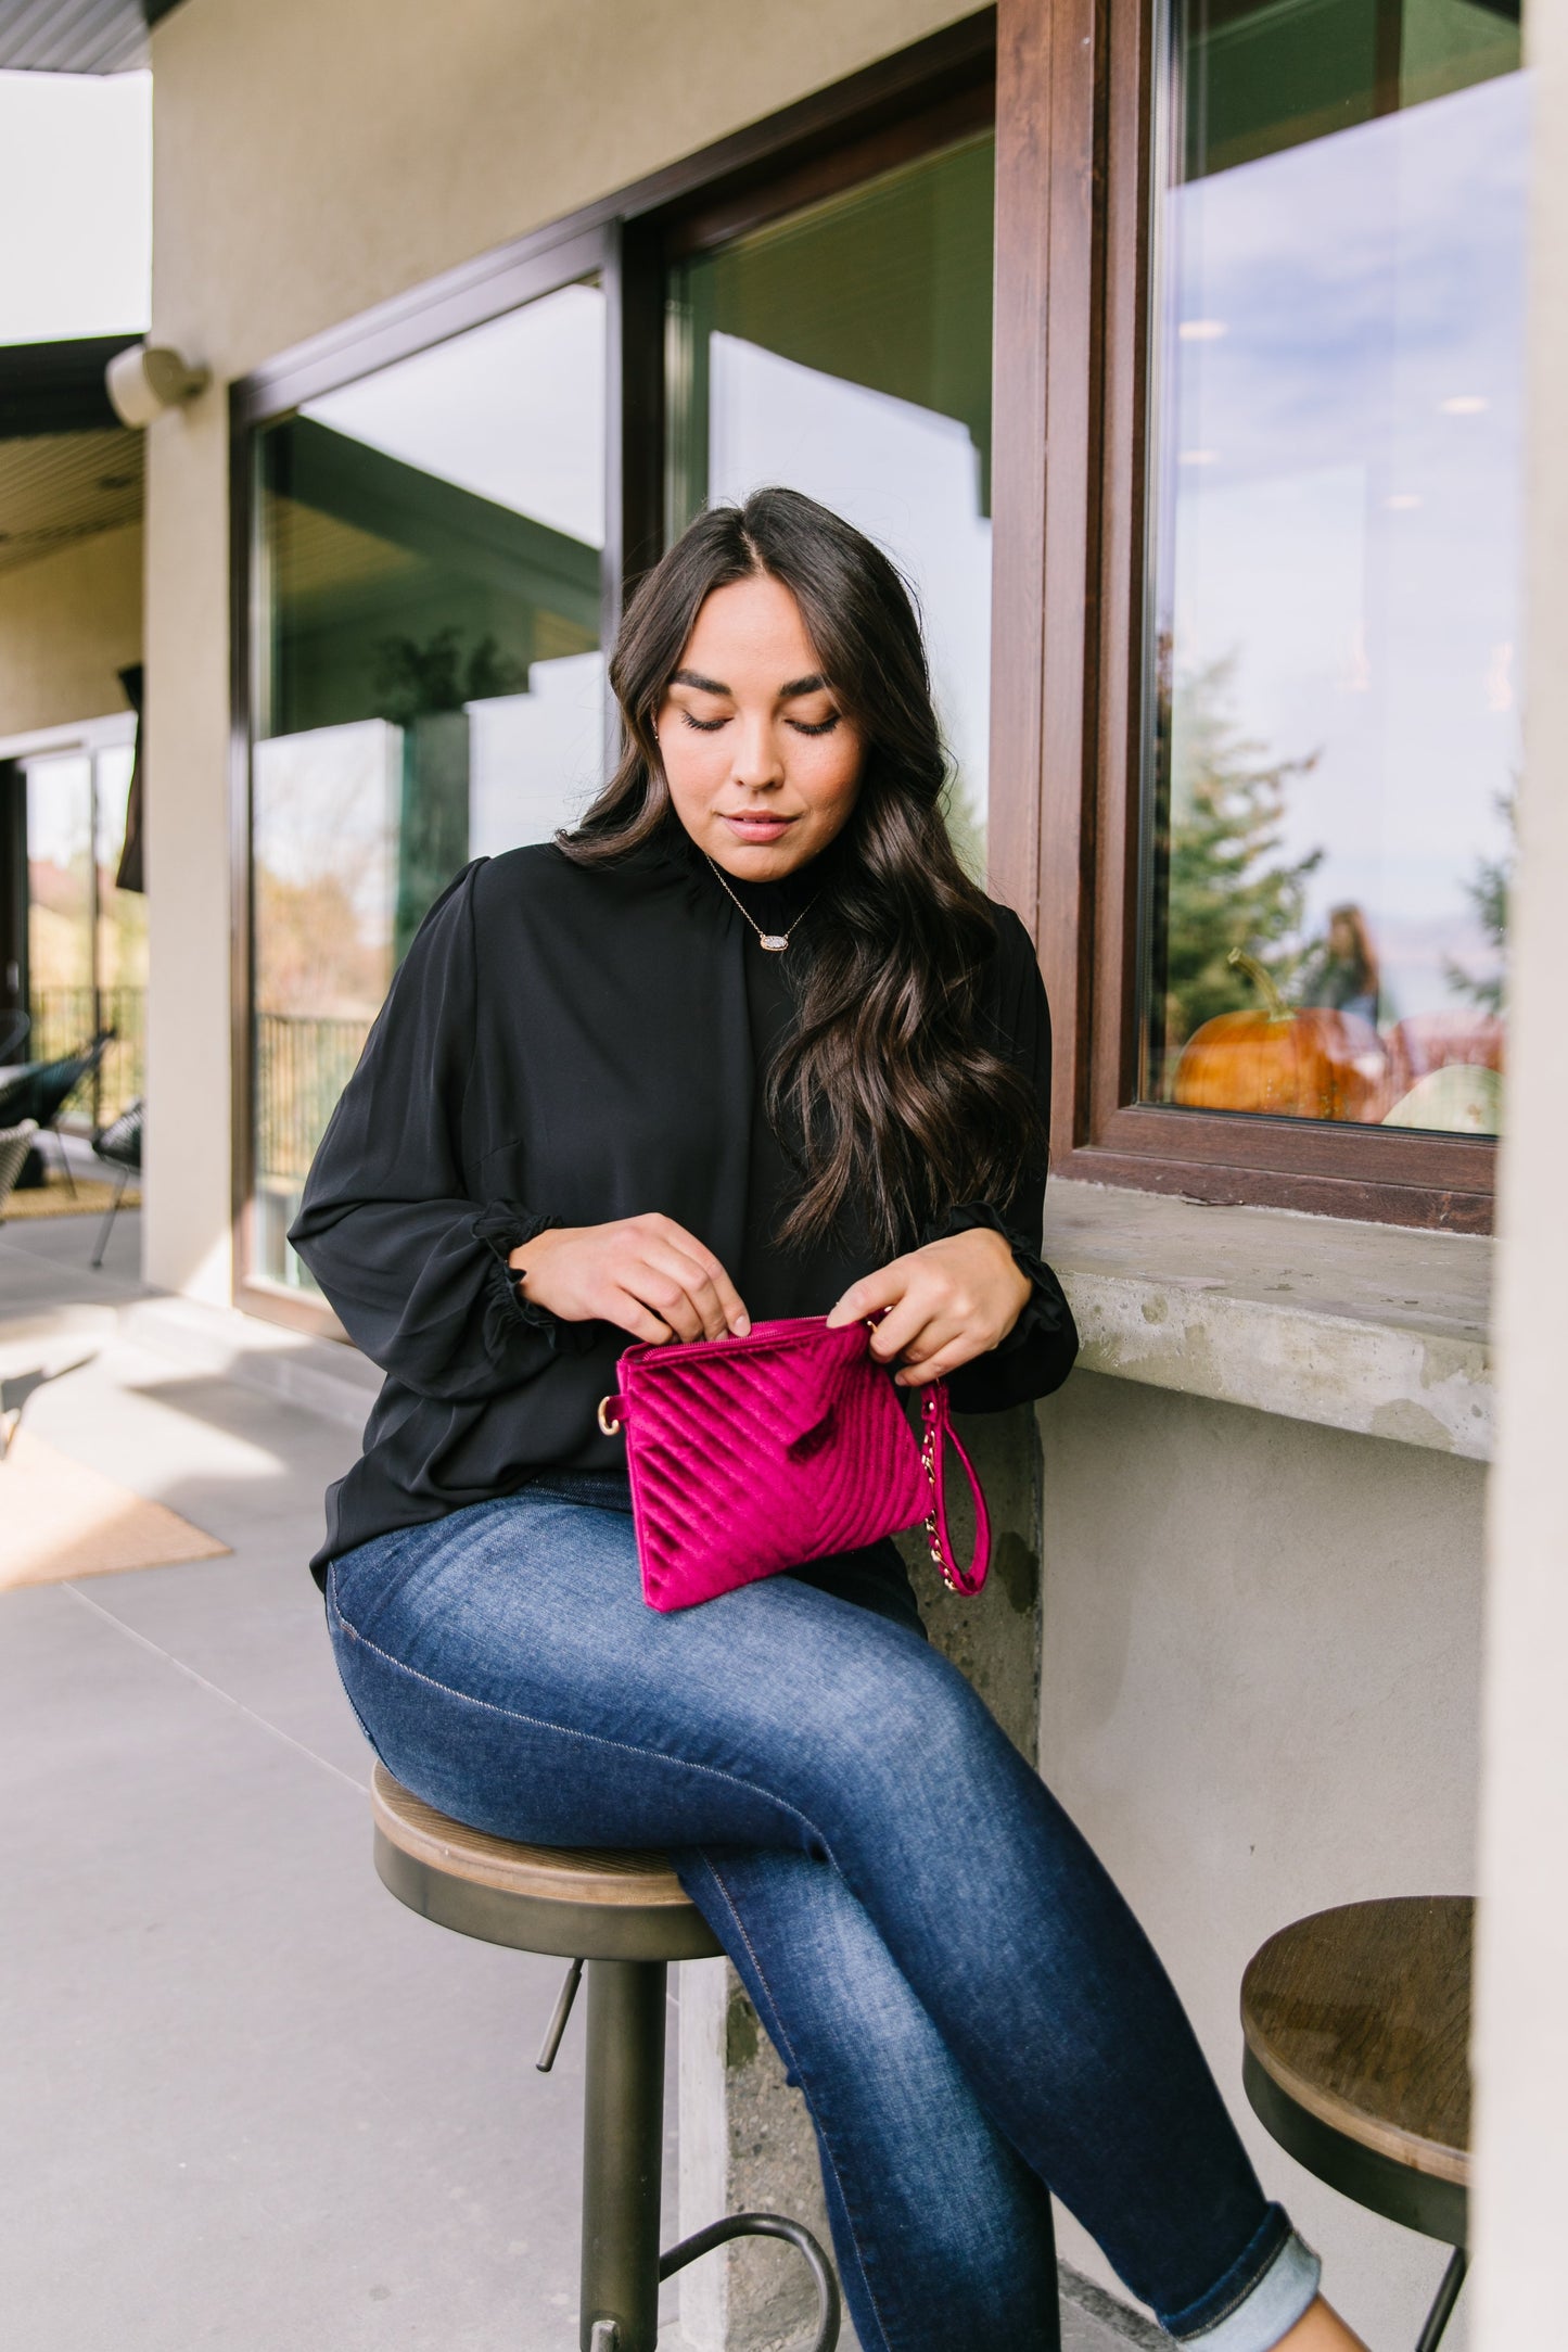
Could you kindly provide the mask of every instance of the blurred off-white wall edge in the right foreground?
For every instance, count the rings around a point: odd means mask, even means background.
[[[1568,2213],[1568,12],[1530,5],[1528,706],[1509,957],[1476,2013],[1476,2340],[1561,2343]]]

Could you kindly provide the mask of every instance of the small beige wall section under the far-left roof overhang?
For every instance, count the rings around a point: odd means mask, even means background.
[[[0,736],[125,710],[141,661],[141,524],[0,572]]]

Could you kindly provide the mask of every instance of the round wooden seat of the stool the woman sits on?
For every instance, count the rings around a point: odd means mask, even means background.
[[[371,1773],[376,1872],[437,1926],[562,1959],[710,1959],[719,1945],[663,1853],[517,1846]]]

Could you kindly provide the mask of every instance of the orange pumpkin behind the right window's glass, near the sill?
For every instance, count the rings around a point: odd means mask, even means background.
[[[1361,1014],[1328,1004],[1288,1007],[1253,955],[1227,962],[1265,1002],[1215,1014],[1182,1047],[1173,1096],[1190,1110],[1253,1110],[1276,1120],[1380,1120],[1389,1108],[1389,1061]]]

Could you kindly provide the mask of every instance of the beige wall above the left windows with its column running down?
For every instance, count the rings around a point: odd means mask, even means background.
[[[186,0],[153,35],[153,334],[214,372],[148,435],[146,1270],[223,1301],[226,388],[273,353],[969,14],[952,0]]]

